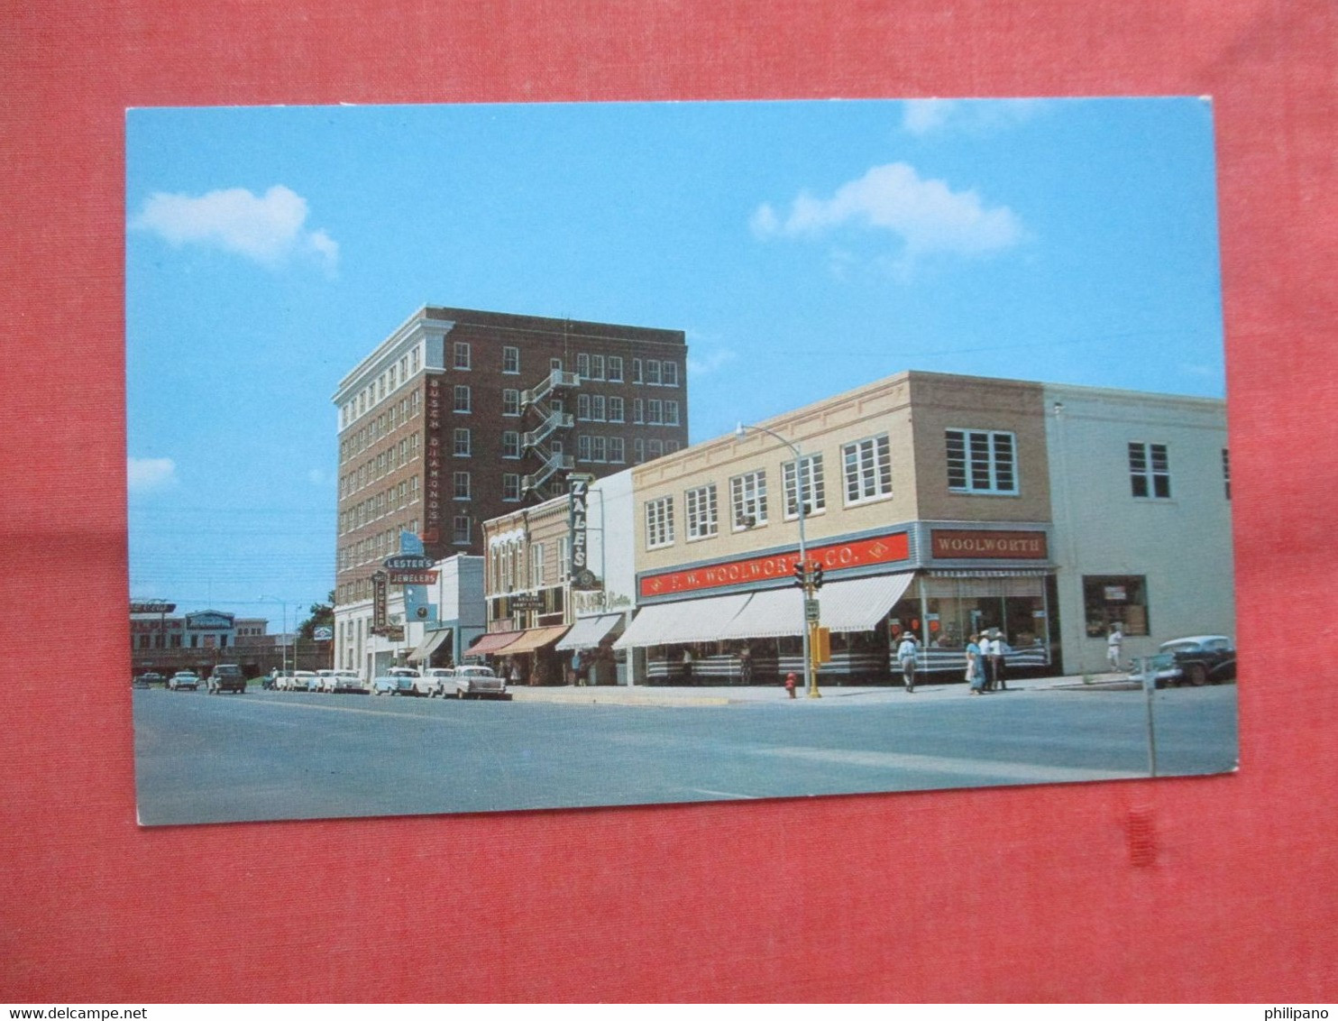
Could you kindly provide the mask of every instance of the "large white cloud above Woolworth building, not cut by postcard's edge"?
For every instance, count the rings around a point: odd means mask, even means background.
[[[800,194],[784,218],[769,205],[752,218],[760,237],[816,237],[846,225],[895,234],[906,258],[935,252],[989,254],[1024,237],[1008,206],[986,206],[974,190],[953,191],[943,181],[921,178],[907,163],[874,167],[831,198]]]

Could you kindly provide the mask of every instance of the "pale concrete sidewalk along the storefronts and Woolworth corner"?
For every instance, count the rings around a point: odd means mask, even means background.
[[[803,681],[800,681],[800,685]],[[1008,697],[1038,690],[1121,690],[1136,685],[1127,680],[1123,673],[1089,674],[1085,680],[1076,677],[1021,677],[1008,681],[1008,689],[999,692],[986,692],[979,697]],[[963,681],[937,681],[921,682],[915,685],[913,693],[907,693],[900,684],[891,685],[836,685],[819,681],[822,699],[808,699],[803,686],[795,692],[791,700],[781,685],[725,685],[725,686],[672,686],[672,685],[599,685],[577,688],[543,686],[510,688],[514,701],[526,703],[565,703],[570,705],[646,705],[646,707],[710,707],[755,703],[808,703],[811,705],[850,704],[846,700],[855,699],[867,703],[902,701],[933,699],[966,699],[970,688]]]

